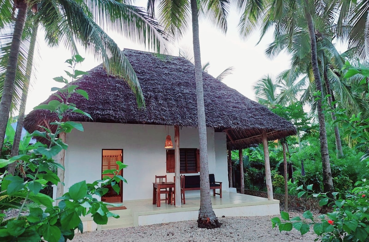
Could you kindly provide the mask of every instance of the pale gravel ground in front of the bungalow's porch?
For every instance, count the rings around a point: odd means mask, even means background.
[[[314,217],[317,213],[314,213]],[[290,218],[300,216],[300,212],[290,212]],[[226,217],[218,218],[221,228],[200,229],[196,221],[171,222],[166,224],[146,225],[121,229],[85,232],[76,234],[73,241],[314,241],[316,235],[309,231],[301,235],[299,231],[282,233],[278,228],[272,229],[270,219],[264,217]],[[312,228],[311,228],[312,230]]]

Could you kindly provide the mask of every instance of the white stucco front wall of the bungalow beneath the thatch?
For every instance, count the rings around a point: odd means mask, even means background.
[[[174,173],[166,173],[165,137],[169,134],[174,143],[172,126],[83,122],[84,132],[68,133],[69,145],[65,156],[65,187],[81,180],[91,183],[101,179],[102,149],[123,149],[123,162],[128,165],[123,176],[123,201],[151,199],[155,175],[167,175],[173,181]],[[209,172],[228,189],[226,138],[224,133],[214,133],[207,128]],[[199,148],[196,128],[180,130],[181,148]],[[219,149],[219,150],[218,150]],[[191,175],[191,174],[186,174]],[[66,192],[66,190],[65,190]],[[199,191],[186,192],[186,196],[199,196]]]

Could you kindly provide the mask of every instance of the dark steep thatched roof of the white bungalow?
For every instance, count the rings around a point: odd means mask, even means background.
[[[87,91],[89,101],[79,95],[69,102],[89,113],[93,120],[78,113],[69,113],[72,121],[160,124],[197,126],[196,84],[194,65],[182,57],[156,57],[149,52],[125,49],[145,97],[146,109],[138,110],[136,99],[128,85],[108,76],[97,66],[75,81]],[[244,97],[207,73],[203,73],[206,125],[215,131],[227,132],[227,146],[245,148],[261,143],[261,133],[268,140],[296,134],[296,128],[268,108]],[[50,96],[45,103],[56,99]],[[49,111],[37,110],[27,115],[25,128],[32,132],[44,120],[53,120]]]

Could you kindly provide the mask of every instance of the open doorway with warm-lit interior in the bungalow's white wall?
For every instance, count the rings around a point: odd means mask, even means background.
[[[102,151],[102,159],[101,159],[101,173],[103,173],[105,170],[110,169],[118,169],[117,161],[123,162],[123,150],[103,150]],[[121,170],[118,175],[123,176],[123,170]],[[101,175],[101,179],[104,176],[110,176],[113,177],[113,174],[104,174]],[[119,193],[115,192],[114,189],[110,186],[108,187],[109,191],[101,197],[102,201],[105,201],[107,203],[121,203],[123,202],[123,182],[119,182]]]

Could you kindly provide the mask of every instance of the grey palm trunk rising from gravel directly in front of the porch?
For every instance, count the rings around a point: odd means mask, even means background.
[[[199,228],[218,228],[220,224],[210,199],[209,164],[207,154],[207,134],[204,106],[203,73],[201,69],[199,19],[197,1],[191,0],[193,55],[195,60],[196,99],[197,99],[197,123],[199,127],[200,143],[200,210],[197,220]]]

